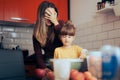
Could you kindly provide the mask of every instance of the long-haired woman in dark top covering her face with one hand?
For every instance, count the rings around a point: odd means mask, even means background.
[[[48,60],[53,58],[54,49],[62,45],[58,38],[63,21],[57,20],[55,5],[43,1],[38,7],[37,20],[33,33],[33,47],[37,60],[37,72],[44,74],[50,68]],[[40,77],[40,75],[39,75]]]

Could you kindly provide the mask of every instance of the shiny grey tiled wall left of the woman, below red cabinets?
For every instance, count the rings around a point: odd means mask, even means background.
[[[21,49],[28,49],[29,55],[34,53],[32,34],[33,27],[0,26],[0,38],[3,36],[3,47],[13,49],[19,45]]]

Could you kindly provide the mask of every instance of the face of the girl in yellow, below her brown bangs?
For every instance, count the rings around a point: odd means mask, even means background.
[[[60,36],[60,40],[62,41],[63,46],[66,46],[66,47],[72,45],[74,38],[75,38],[75,36],[70,36],[70,35],[61,35]]]

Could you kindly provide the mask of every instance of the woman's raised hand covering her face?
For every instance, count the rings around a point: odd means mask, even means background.
[[[47,8],[45,10],[45,19],[50,20],[54,25],[58,25],[57,12],[54,8]]]

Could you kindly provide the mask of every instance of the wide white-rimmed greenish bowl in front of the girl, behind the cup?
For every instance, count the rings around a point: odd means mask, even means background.
[[[71,69],[77,69],[77,70],[79,70],[81,68],[81,62],[83,62],[82,59],[50,59],[50,64],[52,66],[52,69],[54,67],[53,63],[56,60],[58,60],[58,61],[68,61],[68,62],[70,62],[70,68]],[[61,63],[61,65],[66,65],[66,64]]]

